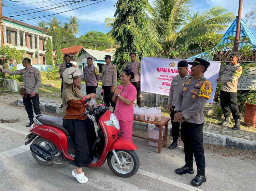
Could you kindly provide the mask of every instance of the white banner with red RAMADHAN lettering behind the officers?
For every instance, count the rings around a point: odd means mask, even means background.
[[[177,64],[180,61],[180,59],[143,57],[141,60],[141,91],[169,95],[172,78],[179,74]],[[193,60],[187,60],[187,62],[193,62]],[[209,62],[211,65],[204,73],[204,76],[212,84],[211,98],[207,101],[212,103],[221,64],[218,61]],[[190,67],[191,65],[188,65],[189,73]]]

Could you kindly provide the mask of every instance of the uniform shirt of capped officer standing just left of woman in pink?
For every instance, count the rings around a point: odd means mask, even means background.
[[[103,86],[116,86],[116,66],[112,63],[108,66],[104,64],[101,68],[102,72],[102,85]]]

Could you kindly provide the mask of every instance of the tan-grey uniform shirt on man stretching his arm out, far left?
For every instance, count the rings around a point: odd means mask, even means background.
[[[38,88],[41,84],[41,76],[40,71],[37,68],[31,66],[29,69],[23,68],[16,71],[2,69],[2,72],[11,75],[22,75],[24,88],[26,89],[27,93],[30,93],[31,91],[38,93]]]

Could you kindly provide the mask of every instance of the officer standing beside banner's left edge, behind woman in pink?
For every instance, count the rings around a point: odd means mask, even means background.
[[[131,84],[137,90],[137,105],[140,107],[140,63],[136,61],[136,54],[132,52],[130,54],[131,62],[128,62],[124,69],[130,69],[134,73],[134,79],[131,79]]]

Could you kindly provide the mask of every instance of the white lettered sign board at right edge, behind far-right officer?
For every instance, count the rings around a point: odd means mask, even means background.
[[[252,72],[250,72],[250,71],[252,71]],[[249,70],[246,71],[245,76],[241,75],[239,77],[237,89],[256,90],[256,67],[250,67]]]

